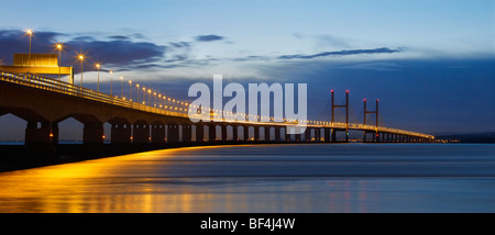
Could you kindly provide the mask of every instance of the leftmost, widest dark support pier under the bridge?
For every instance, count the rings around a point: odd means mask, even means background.
[[[37,122],[28,122],[24,143],[25,145],[52,145],[54,136],[52,123],[42,122],[38,128]]]

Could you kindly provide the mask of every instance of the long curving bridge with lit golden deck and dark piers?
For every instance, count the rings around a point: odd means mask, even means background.
[[[131,90],[132,91],[132,90]],[[349,91],[346,93],[349,98]],[[150,94],[151,100],[151,94]],[[85,144],[103,144],[103,123],[111,124],[112,144],[173,144],[173,143],[222,143],[222,142],[338,142],[337,133],[343,132],[345,142],[349,131],[362,131],[363,142],[431,142],[433,136],[387,128],[370,124],[308,121],[304,134],[287,134],[287,128],[297,127],[292,120],[286,122],[248,122],[229,120],[229,113],[220,122],[194,123],[188,118],[188,102],[163,99],[154,105],[112,97],[69,82],[32,74],[13,74],[1,70],[0,115],[11,113],[28,122],[25,145],[57,144],[58,123],[74,118],[84,124]],[[345,108],[349,114],[349,99]],[[168,102],[168,103],[166,103]],[[215,111],[215,110],[213,110]],[[376,112],[366,111],[366,113]],[[333,121],[333,112],[332,112]],[[249,130],[253,130],[250,132]],[[230,135],[228,135],[228,132]],[[208,134],[207,134],[208,133]],[[252,133],[252,135],[250,135]],[[230,136],[228,138],[228,136]],[[206,144],[208,144],[206,143]]]

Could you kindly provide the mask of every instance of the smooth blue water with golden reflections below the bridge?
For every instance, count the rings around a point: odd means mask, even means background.
[[[155,150],[2,172],[0,212],[495,212],[495,145]]]

